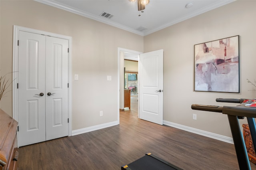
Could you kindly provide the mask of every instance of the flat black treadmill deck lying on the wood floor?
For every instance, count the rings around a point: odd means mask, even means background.
[[[182,170],[181,168],[170,164],[158,156],[147,153],[142,158],[134,162],[121,166],[121,170]]]

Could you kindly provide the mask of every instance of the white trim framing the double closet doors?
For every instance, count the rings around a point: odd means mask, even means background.
[[[13,26],[13,51],[12,51],[12,117],[18,121],[18,38],[19,31],[30,32],[34,34],[43,34],[55,38],[68,40],[68,136],[72,135],[72,37],[61,34],[54,34],[31,28]],[[17,134],[18,135],[18,134]]]

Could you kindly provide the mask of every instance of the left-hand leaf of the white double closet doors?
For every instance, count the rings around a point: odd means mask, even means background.
[[[45,141],[45,39],[19,32],[19,146]]]

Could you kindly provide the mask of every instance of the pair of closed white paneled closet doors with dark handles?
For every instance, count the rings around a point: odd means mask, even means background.
[[[68,40],[19,32],[18,123],[19,146],[68,136]]]

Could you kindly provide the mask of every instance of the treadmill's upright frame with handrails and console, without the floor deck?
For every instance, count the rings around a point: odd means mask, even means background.
[[[252,142],[254,144],[254,148],[256,148],[256,125],[254,121],[254,118],[256,117],[256,100],[218,98],[216,99],[216,101],[242,104],[233,107],[193,104],[191,105],[191,108],[194,110],[219,112],[228,115],[228,121],[234,141],[239,168],[240,170],[250,170],[250,162],[238,119],[243,117],[247,118],[250,133],[252,136]]]

